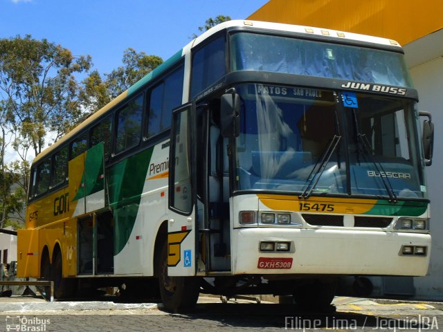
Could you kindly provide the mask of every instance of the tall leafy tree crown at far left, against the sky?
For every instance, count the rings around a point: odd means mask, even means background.
[[[75,73],[91,67],[90,56],[30,35],[0,39],[0,97],[6,122],[39,154],[48,131],[55,140],[81,116]]]

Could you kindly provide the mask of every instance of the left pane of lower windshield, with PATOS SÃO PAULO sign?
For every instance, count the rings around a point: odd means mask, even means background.
[[[244,84],[237,92],[242,98],[237,189],[306,190],[329,142],[340,136],[336,94],[262,84]],[[345,193],[342,151],[343,140],[325,160],[314,193]]]

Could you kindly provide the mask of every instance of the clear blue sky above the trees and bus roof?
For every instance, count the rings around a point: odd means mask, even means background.
[[[163,60],[217,15],[246,19],[267,0],[0,0],[0,38],[31,35],[91,55],[110,73],[129,47]]]

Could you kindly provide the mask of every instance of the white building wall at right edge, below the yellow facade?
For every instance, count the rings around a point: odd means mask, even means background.
[[[443,56],[414,66],[410,72],[419,93],[419,110],[431,111],[435,125],[433,165],[426,167],[433,237],[431,265],[426,277],[415,278],[415,297],[443,299]]]

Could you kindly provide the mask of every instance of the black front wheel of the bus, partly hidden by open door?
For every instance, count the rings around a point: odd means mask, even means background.
[[[168,275],[168,243],[163,243],[158,261],[160,295],[165,310],[177,312],[195,307],[199,298],[198,277],[170,277]]]

